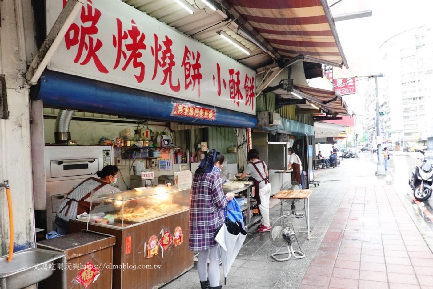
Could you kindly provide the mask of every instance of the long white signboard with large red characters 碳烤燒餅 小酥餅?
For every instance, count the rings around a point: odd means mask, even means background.
[[[46,2],[49,31],[66,0]],[[255,71],[120,0],[85,0],[48,68],[247,114],[256,110]]]

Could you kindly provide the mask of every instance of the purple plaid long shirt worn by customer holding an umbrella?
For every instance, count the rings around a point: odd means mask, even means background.
[[[190,196],[188,246],[192,251],[206,250],[216,245],[215,234],[224,223],[223,208],[229,202],[222,185],[220,170],[216,167],[210,173],[194,175]]]

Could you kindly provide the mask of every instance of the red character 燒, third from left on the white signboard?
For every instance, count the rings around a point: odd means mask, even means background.
[[[173,85],[172,82],[172,68],[174,65],[176,65],[176,62],[174,62],[174,55],[173,52],[171,52],[171,45],[173,45],[173,41],[168,38],[168,36],[165,36],[165,40],[162,41],[162,44],[165,46],[165,49],[162,50],[162,45],[158,44],[158,36],[154,34],[155,36],[155,46],[152,47],[152,55],[155,57],[155,68],[153,71],[153,77],[152,80],[155,79],[156,73],[158,71],[158,66],[161,68],[164,68],[162,71],[164,72],[164,79],[161,82],[161,85],[164,85],[167,82],[167,79],[169,78],[170,88],[172,91],[180,91],[181,90],[181,84],[178,80],[178,85]],[[162,57],[159,58],[159,52],[162,51]]]

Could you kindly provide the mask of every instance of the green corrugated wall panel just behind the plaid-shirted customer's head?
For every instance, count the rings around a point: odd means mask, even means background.
[[[216,151],[224,154],[228,163],[237,163],[236,153],[227,153],[227,148],[236,146],[236,133],[234,128],[229,127],[209,127],[209,139],[207,147],[209,150],[216,149]]]

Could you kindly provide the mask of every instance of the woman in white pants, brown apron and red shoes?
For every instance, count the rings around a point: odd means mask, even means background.
[[[269,182],[268,167],[265,162],[259,159],[257,149],[250,149],[247,155],[249,164],[242,172],[241,178],[245,178],[247,174],[252,176],[255,187],[255,198],[259,205],[260,213],[262,214],[262,224],[257,229],[258,232],[271,231],[269,223],[269,198],[271,196],[271,183]],[[258,193],[257,193],[258,192]]]

